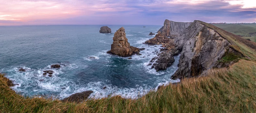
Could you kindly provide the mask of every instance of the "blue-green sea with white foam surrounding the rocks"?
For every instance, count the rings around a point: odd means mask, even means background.
[[[142,44],[154,36],[161,26],[109,25],[110,34],[99,33],[100,25],[49,25],[0,27],[0,72],[19,84],[12,87],[24,96],[66,98],[73,93],[92,90],[91,98],[121,95],[137,98],[159,85],[169,82],[177,70],[179,56],[173,66],[156,72],[147,66],[157,56],[160,45]],[[131,60],[107,54],[114,32],[124,27],[131,46],[145,48],[141,56]],[[90,59],[89,57],[96,59]],[[50,65],[60,64],[60,69]],[[19,67],[26,72],[19,72]],[[53,70],[52,77],[43,77]],[[106,86],[106,89],[103,89]]]

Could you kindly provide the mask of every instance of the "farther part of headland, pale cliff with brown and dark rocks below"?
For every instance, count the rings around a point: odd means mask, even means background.
[[[178,50],[175,49],[174,38],[177,38],[191,22],[173,22],[165,20],[164,26],[159,29],[154,38],[145,42],[148,45],[162,45],[165,49],[161,49],[157,57],[154,57],[148,64],[152,65],[156,71],[166,70],[174,62],[174,56],[178,55]],[[171,37],[171,38],[169,38]]]

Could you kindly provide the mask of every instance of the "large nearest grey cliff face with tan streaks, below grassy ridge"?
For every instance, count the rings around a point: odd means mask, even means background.
[[[230,65],[219,62],[225,53],[243,55],[234,49],[231,41],[221,36],[219,28],[201,21],[194,21],[184,33],[175,38],[177,49],[182,49],[179,68],[173,79],[185,77],[198,77],[206,74],[213,67]],[[221,29],[221,32],[232,35]]]

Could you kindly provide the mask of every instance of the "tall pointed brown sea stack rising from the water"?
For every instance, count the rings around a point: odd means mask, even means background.
[[[116,54],[121,57],[132,56],[133,54],[140,54],[140,49],[137,47],[130,46],[128,39],[125,36],[124,27],[118,29],[113,37],[113,44],[111,45],[111,50],[107,53]]]

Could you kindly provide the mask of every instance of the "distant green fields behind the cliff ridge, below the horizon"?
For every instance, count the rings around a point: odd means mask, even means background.
[[[251,39],[256,42],[256,24],[214,24],[216,27],[224,29],[235,35],[243,36],[244,39]],[[249,33],[255,33],[253,35]],[[250,37],[252,36],[252,37]]]

